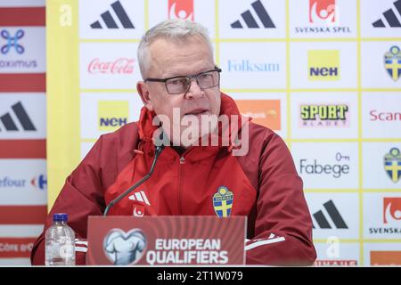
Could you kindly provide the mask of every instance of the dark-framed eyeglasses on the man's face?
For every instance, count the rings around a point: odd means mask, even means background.
[[[216,68],[190,76],[169,77],[165,79],[146,78],[144,82],[164,82],[168,94],[185,94],[191,87],[192,78],[196,79],[201,89],[216,87],[220,84],[220,72],[221,69]]]

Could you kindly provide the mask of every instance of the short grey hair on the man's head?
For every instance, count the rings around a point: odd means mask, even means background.
[[[155,40],[159,38],[168,40],[184,40],[195,36],[201,37],[201,39],[209,45],[210,53],[213,55],[213,45],[209,38],[208,29],[192,20],[164,20],[149,29],[143,35],[137,51],[139,68],[141,69],[143,79],[145,77],[146,68],[149,67],[150,63],[149,47]]]

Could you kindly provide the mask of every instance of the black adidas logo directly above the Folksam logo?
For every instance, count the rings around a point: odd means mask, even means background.
[[[255,17],[250,10],[241,13],[241,18],[244,20],[248,28],[260,28],[260,23],[265,28],[275,28],[273,20],[267,13],[265,6],[260,2],[260,0],[251,4],[254,12],[258,17]],[[258,23],[260,20],[260,23]],[[231,24],[231,28],[243,28],[241,20],[236,20]]]

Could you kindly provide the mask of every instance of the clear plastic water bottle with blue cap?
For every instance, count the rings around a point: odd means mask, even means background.
[[[53,215],[53,225],[45,234],[45,265],[75,265],[75,233],[65,213]]]

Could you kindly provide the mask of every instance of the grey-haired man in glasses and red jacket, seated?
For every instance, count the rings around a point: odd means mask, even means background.
[[[273,131],[241,118],[233,99],[220,92],[221,69],[205,28],[186,20],[161,22],[143,37],[138,59],[144,78],[137,84],[144,104],[139,121],[102,135],[67,178],[32,249],[32,264],[44,265],[45,230],[53,213],[63,212],[76,232],[76,263],[85,265],[87,217],[102,216],[112,199],[149,172],[162,126],[176,146],[165,147],[151,178],[135,190],[141,199],[127,196],[109,215],[247,216],[248,265],[312,265],[312,221],[291,153]],[[190,142],[179,141],[179,134],[193,129],[183,121],[201,116],[225,116],[229,126],[239,126],[230,128],[227,144],[220,132],[217,145],[211,144],[215,133],[204,133],[201,125]],[[205,136],[209,144],[197,146]],[[241,148],[245,153],[235,155]],[[213,197],[226,193],[226,207],[216,207]]]

